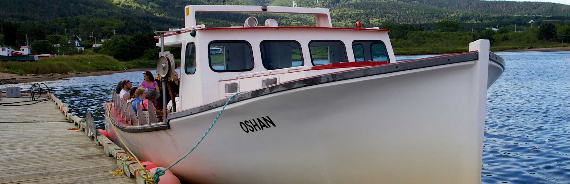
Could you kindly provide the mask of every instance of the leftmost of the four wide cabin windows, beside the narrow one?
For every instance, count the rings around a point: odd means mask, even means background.
[[[246,41],[213,41],[209,46],[210,68],[215,72],[253,69],[251,45]]]

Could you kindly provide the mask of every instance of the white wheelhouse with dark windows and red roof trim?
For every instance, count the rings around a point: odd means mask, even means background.
[[[248,18],[243,27],[206,28],[196,25],[197,12],[314,14],[317,21],[315,27],[284,27],[267,19],[264,26],[250,27]],[[395,61],[388,30],[331,27],[328,9],[190,5],[185,15],[186,28],[164,35],[166,47],[182,47],[180,109],[239,91]]]

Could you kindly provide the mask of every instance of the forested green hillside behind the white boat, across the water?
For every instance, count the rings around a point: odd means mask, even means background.
[[[299,7],[331,9],[333,26],[364,27],[397,24],[422,24],[433,30],[435,22],[455,21],[465,30],[499,25],[524,25],[533,19],[565,21],[570,7],[558,3],[455,0],[296,0]],[[0,6],[0,36],[5,44],[22,45],[45,35],[67,34],[88,39],[109,39],[115,34],[132,35],[173,27],[183,27],[186,5],[221,5],[221,0],[26,0],[5,1]],[[291,6],[291,0],[226,0],[226,5]],[[239,26],[246,15],[203,15],[199,23],[207,27]],[[282,26],[310,26],[309,16],[271,15]],[[265,18],[265,17],[259,17]],[[469,25],[469,27],[464,25]],[[426,26],[427,25],[427,26]],[[96,31],[96,32],[93,32]]]

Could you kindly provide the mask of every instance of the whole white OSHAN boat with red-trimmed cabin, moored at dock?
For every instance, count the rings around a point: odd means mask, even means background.
[[[249,17],[206,27],[196,13],[307,14],[315,26]],[[169,169],[178,178],[481,183],[486,91],[504,71],[488,40],[398,61],[389,30],[333,27],[328,9],[190,5],[184,17],[184,28],[155,37],[182,48],[177,111],[160,121],[152,110],[133,115],[116,95],[104,104],[109,139],[140,160],[168,167],[217,119]],[[162,62],[159,71],[172,69]]]

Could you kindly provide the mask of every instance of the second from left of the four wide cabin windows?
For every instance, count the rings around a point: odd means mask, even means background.
[[[266,40],[259,44],[263,67],[280,69],[303,66],[298,42],[292,40]]]

